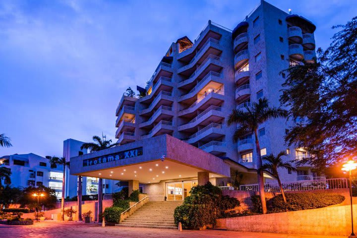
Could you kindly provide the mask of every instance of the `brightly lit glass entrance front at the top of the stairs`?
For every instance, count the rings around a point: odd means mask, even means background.
[[[168,201],[183,200],[190,195],[192,187],[197,186],[197,180],[167,182],[166,197]]]

